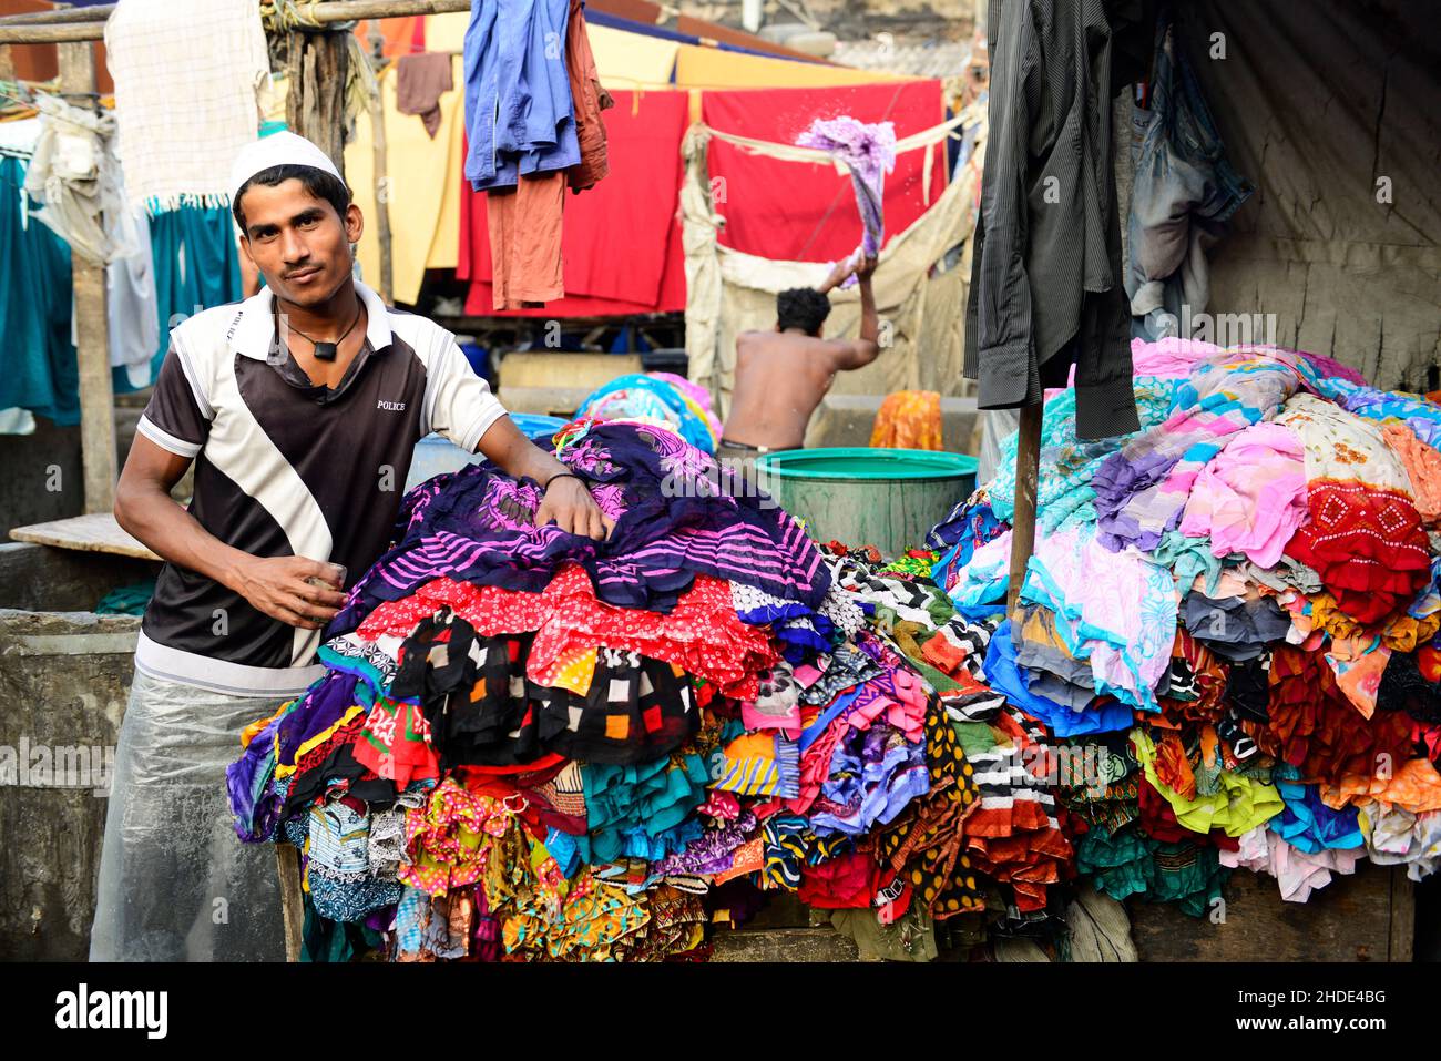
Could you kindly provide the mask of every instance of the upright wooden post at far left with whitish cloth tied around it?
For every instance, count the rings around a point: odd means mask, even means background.
[[[95,91],[95,46],[61,45],[61,91]],[[75,287],[75,353],[79,360],[81,454],[85,469],[85,512],[115,507],[115,395],[110,375],[105,327],[105,267],[71,255]]]

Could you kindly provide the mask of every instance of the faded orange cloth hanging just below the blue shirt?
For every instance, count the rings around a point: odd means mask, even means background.
[[[486,192],[497,310],[519,310],[565,294],[563,210],[565,170],[523,176],[514,187]]]

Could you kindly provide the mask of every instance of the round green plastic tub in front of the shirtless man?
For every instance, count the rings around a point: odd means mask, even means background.
[[[892,556],[976,489],[976,458],[931,450],[781,450],[755,461],[761,486],[821,542],[875,545]]]

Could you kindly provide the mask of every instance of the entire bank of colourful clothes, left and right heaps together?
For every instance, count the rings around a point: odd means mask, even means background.
[[[1078,900],[1202,915],[1235,869],[1429,874],[1441,407],[1270,347],[1134,359],[1140,432],[1046,404],[1014,616],[1014,440],[893,559],[644,421],[552,440],[602,543],[487,464],[418,487],[231,768],[241,838],[301,849],[308,956],[703,960],[788,895],[925,960]]]

